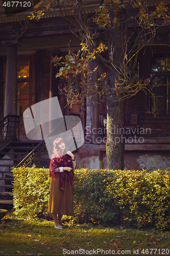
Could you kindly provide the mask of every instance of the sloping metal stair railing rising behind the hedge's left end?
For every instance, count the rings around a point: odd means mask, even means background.
[[[68,116],[72,116],[72,115],[68,115]],[[33,166],[33,164],[35,166],[40,166],[40,167],[44,167],[44,168],[48,168],[50,165],[50,158],[48,156],[48,153],[53,152],[53,141],[54,135],[59,135],[60,133],[63,133],[63,125],[65,126],[65,118],[62,119],[62,121],[55,127],[55,129],[46,136],[46,138],[44,138],[35,148],[33,151],[31,151],[17,166],[16,168],[18,168],[19,166]],[[74,141],[75,141],[75,137],[74,136]],[[45,139],[48,140],[47,143],[45,143]],[[78,140],[78,138],[77,138]],[[48,151],[47,151],[47,146],[48,146]],[[67,146],[67,144],[66,144]],[[49,148],[50,148],[50,152],[49,152]]]

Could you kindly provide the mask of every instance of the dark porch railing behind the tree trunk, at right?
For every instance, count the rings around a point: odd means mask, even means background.
[[[100,113],[100,128],[106,136],[107,114]],[[115,127],[116,129],[117,127]],[[124,131],[126,137],[170,136],[170,112],[157,111],[155,116],[146,112],[124,112]]]

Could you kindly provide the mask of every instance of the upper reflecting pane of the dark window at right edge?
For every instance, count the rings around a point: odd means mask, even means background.
[[[165,71],[165,54],[153,54],[151,57],[151,71],[163,72]]]

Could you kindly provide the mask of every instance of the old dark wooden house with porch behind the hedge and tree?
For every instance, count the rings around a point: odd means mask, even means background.
[[[81,102],[71,109],[58,89],[59,79],[53,56],[80,49],[80,41],[70,32],[66,22],[54,13],[46,12],[39,20],[25,20],[29,10],[7,15],[0,1],[0,189],[10,189],[11,167],[16,166],[32,150],[45,154],[42,140],[30,140],[23,125],[23,112],[29,106],[57,96],[63,116],[81,118],[84,144],[75,151],[78,168],[107,168],[106,159],[106,99],[96,98],[100,104],[88,101],[88,109],[82,110]],[[160,0],[148,0],[150,7]],[[99,1],[89,2],[92,13]],[[169,2],[167,2],[169,5]],[[133,26],[129,28],[129,32]],[[139,70],[143,79],[155,74],[151,83],[155,87],[156,117],[152,114],[153,96],[140,91],[124,102],[125,167],[127,169],[151,170],[170,167],[170,83],[169,27],[157,30],[155,41],[140,52]],[[20,35],[19,39],[16,38]],[[105,39],[102,39],[105,43]],[[11,126],[10,126],[10,125]],[[7,132],[6,127],[9,125]],[[12,136],[15,127],[17,133]],[[92,127],[94,133],[89,133]],[[97,132],[96,132],[97,131]],[[98,132],[102,131],[102,132]],[[116,131],[116,127],[115,127]],[[130,131],[130,132],[129,132]],[[9,136],[9,138],[8,138]],[[46,162],[41,162],[45,166]],[[4,183],[6,175],[6,184]]]

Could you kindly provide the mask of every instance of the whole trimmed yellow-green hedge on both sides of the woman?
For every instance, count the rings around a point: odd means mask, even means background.
[[[37,217],[45,212],[50,193],[49,169],[13,169],[14,213]],[[170,227],[170,173],[157,170],[77,169],[74,207],[77,222]]]

